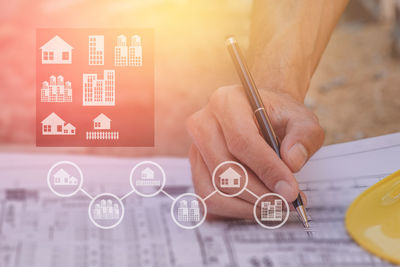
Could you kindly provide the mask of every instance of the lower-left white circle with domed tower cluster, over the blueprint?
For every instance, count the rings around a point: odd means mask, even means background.
[[[92,199],[88,213],[94,225],[101,229],[111,229],[121,223],[125,208],[117,196],[104,193]]]

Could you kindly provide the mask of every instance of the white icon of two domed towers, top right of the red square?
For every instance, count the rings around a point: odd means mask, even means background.
[[[121,34],[117,37],[115,46],[114,64],[117,67],[140,67],[142,66],[142,42],[139,35],[133,35],[130,45],[127,45],[127,38]]]

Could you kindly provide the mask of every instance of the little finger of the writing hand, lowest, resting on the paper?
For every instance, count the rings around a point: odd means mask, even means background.
[[[204,199],[214,191],[208,167],[194,146],[189,158],[196,194]],[[238,198],[227,198],[216,193],[206,199],[206,204],[208,212],[218,217],[253,219],[253,205]]]

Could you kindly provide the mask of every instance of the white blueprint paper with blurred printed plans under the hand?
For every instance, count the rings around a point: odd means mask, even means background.
[[[344,214],[358,194],[398,169],[399,156],[400,134],[322,148],[297,174],[309,200],[308,231],[295,213],[276,230],[249,221],[181,229],[164,194],[130,195],[122,223],[102,230],[88,218],[85,195],[50,192],[48,168],[57,160],[74,161],[87,192],[123,196],[130,168],[143,159],[0,154],[0,266],[390,266],[351,240]],[[193,191],[187,159],[152,160],[165,168],[166,192]]]

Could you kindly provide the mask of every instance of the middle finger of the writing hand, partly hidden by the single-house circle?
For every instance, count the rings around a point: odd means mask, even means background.
[[[188,121],[188,130],[192,135],[197,149],[199,150],[209,173],[213,173],[214,169],[224,161],[237,161],[233,157],[225,143],[221,129],[210,113],[209,109],[203,109],[192,116]],[[254,175],[251,170],[247,169],[248,185],[247,188],[257,195],[262,195],[270,192],[270,190]],[[210,178],[211,179],[211,178]],[[218,188],[227,194],[232,194],[227,188]],[[243,192],[239,198],[246,200],[249,203],[255,203],[256,199],[248,192]]]

